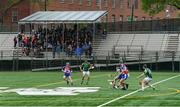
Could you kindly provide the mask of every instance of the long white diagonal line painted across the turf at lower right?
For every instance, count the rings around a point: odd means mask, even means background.
[[[171,79],[173,79],[173,78],[177,78],[177,77],[179,77],[179,76],[180,76],[180,75],[176,75],[176,76],[173,76],[173,77],[170,77],[170,78],[167,78],[167,79],[164,79],[164,80],[155,82],[155,83],[152,84],[152,86],[157,85],[157,84],[160,84],[160,83],[165,82],[165,81],[168,81],[168,80],[171,80]],[[148,88],[148,86],[145,87],[144,89],[146,89],[146,88]],[[137,93],[137,92],[139,92],[139,91],[141,91],[141,89],[138,89],[138,90],[135,90],[135,91],[133,91],[133,92],[131,92],[131,93],[128,93],[128,94],[126,94],[126,95],[117,97],[117,98],[115,98],[115,99],[113,99],[113,100],[110,100],[110,101],[108,101],[108,102],[106,102],[106,103],[103,103],[103,104],[101,104],[101,105],[99,105],[99,106],[97,106],[97,107],[103,107],[103,106],[105,106],[105,105],[107,105],[107,104],[110,104],[110,103],[115,102],[115,101],[117,101],[117,100],[119,100],[119,99],[125,98],[125,97],[127,97],[127,96],[132,95],[132,94],[135,94],[135,93]]]

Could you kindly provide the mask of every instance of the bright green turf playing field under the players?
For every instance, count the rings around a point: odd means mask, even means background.
[[[16,93],[0,93],[0,106],[98,106],[117,97],[139,89],[136,77],[140,72],[131,72],[127,91],[112,89],[107,82],[111,73],[92,72],[88,86],[101,87],[95,93],[81,93],[77,96],[20,96]],[[152,83],[179,75],[180,73],[154,72]],[[0,72],[0,87],[14,88],[56,88],[67,86],[59,72]],[[74,86],[80,85],[81,74],[73,73]],[[68,87],[68,86],[67,86]],[[108,106],[180,106],[180,76],[151,88],[108,104]]]

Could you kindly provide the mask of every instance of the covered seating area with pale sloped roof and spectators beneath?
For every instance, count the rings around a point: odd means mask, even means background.
[[[53,58],[65,52],[66,56],[92,56],[92,44],[96,36],[95,24],[103,21],[107,11],[40,11],[21,19],[19,26],[29,27],[27,41],[36,50],[52,52]],[[24,28],[21,34],[24,35]],[[21,41],[21,40],[20,40]],[[59,55],[58,55],[59,56]]]

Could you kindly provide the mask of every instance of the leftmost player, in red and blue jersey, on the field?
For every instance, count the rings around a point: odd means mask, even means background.
[[[69,85],[69,82],[71,83],[71,85],[73,85],[73,81],[72,81],[72,77],[71,77],[71,67],[69,63],[66,63],[66,66],[63,67],[62,71],[64,72],[64,80],[67,82],[67,85]]]

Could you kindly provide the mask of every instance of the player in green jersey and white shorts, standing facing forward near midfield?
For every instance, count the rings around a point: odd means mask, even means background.
[[[85,60],[85,62],[82,63],[82,65],[80,66],[80,70],[81,72],[83,72],[81,85],[83,84],[85,77],[87,77],[86,85],[88,85],[89,80],[90,80],[90,69],[93,69],[93,68],[94,67],[87,60]]]

